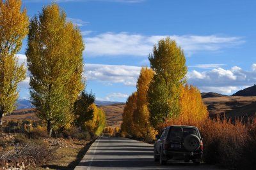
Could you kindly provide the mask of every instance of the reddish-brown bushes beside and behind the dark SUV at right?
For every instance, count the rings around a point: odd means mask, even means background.
[[[226,117],[207,118],[202,122],[181,118],[169,120],[159,128],[168,125],[194,125],[200,129],[204,139],[204,160],[209,164],[220,164],[234,169],[256,169],[256,119],[253,124],[241,120],[232,122]]]

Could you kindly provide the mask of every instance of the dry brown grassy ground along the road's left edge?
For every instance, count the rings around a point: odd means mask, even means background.
[[[22,146],[30,146],[29,143],[41,143],[42,147],[54,149],[51,159],[42,167],[29,167],[30,169],[74,169],[92,144],[92,141],[62,138],[42,138],[38,140],[28,139],[18,134],[1,134],[0,152],[8,153],[13,150],[13,140]],[[33,146],[33,145],[31,145]],[[28,150],[24,148],[26,152]],[[12,153],[12,152],[10,152]],[[10,155],[9,153],[9,155]],[[41,153],[40,153],[41,154]],[[3,157],[3,156],[2,156]]]

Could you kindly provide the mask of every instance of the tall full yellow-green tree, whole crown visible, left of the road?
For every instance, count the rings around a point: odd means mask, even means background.
[[[49,136],[74,120],[73,105],[84,88],[83,50],[81,32],[57,4],[31,18],[26,49],[31,101],[47,121]]]

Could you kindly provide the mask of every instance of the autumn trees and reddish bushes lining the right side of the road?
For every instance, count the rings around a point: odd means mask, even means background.
[[[200,91],[186,83],[183,50],[170,38],[154,45],[137,90],[128,97],[121,136],[145,142],[169,125],[194,125],[204,138],[204,161],[234,169],[255,169],[256,120],[209,117]]]

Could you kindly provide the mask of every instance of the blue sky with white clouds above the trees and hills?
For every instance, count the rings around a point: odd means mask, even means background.
[[[86,91],[100,101],[122,101],[136,91],[141,66],[159,39],[170,36],[184,50],[189,85],[201,92],[234,94],[256,81],[256,1],[56,0],[78,25]],[[47,0],[24,0],[29,17]],[[26,62],[26,39],[17,54]],[[29,73],[19,84],[29,99]]]

